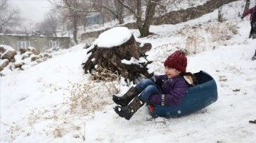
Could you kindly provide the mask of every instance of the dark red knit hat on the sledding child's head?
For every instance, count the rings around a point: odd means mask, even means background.
[[[181,50],[175,51],[172,55],[167,57],[164,62],[164,67],[171,67],[181,72],[186,72],[186,66],[186,55]]]

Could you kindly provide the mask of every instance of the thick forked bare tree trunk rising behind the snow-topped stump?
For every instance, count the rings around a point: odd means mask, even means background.
[[[142,17],[142,0],[137,0],[134,1],[136,2],[137,9],[134,10],[131,8],[131,6],[124,4],[122,0],[117,0],[119,4],[122,4],[124,8],[127,8],[131,13],[134,13],[134,16],[136,18],[136,23],[137,27],[139,29],[139,33],[141,37],[146,37],[149,35],[149,26],[151,25],[153,18],[154,18],[154,13],[155,13],[155,8],[158,5],[159,1],[161,0],[147,0],[146,1],[146,11],[144,13],[144,17]]]

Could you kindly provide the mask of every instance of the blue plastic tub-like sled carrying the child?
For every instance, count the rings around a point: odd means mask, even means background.
[[[149,113],[154,117],[174,118],[195,113],[218,99],[217,85],[212,76],[205,71],[194,74],[196,86],[188,88],[181,103],[174,107],[149,104]]]

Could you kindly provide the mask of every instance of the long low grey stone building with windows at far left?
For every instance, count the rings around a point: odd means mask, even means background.
[[[16,34],[0,34],[0,45],[9,45],[16,51],[20,51],[21,48],[34,47],[40,52],[52,47],[68,48],[71,46],[70,37]]]

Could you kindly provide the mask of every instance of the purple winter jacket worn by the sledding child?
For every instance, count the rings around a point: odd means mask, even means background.
[[[183,76],[176,76],[168,79],[166,75],[153,76],[151,78],[154,83],[159,86],[161,95],[152,95],[149,103],[156,105],[174,106],[181,102],[188,91],[188,84]]]

